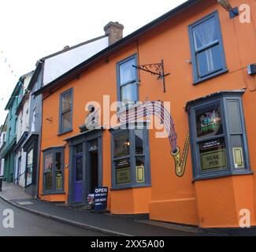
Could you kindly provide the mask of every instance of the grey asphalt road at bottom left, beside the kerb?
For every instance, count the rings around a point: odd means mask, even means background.
[[[5,209],[12,209],[14,213],[14,228],[4,228]],[[8,215],[9,217],[9,215]],[[9,223],[9,222],[8,222]],[[10,206],[0,199],[0,236],[106,236],[100,232],[78,228],[58,221],[52,221],[22,209]]]

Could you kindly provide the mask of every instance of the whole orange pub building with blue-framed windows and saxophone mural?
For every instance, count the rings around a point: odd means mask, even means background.
[[[223,2],[187,1],[35,92],[42,200],[86,204],[104,186],[112,214],[256,224],[256,2]]]

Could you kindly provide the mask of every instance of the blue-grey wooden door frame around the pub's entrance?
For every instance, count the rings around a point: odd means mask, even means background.
[[[69,143],[69,195],[68,204],[77,204],[75,202],[75,146],[77,144],[83,144],[83,191],[82,191],[82,205],[87,204],[87,195],[90,191],[88,180],[90,178],[90,158],[89,158],[89,148],[91,140],[98,139],[98,186],[102,187],[102,135],[103,130],[93,130],[90,132],[84,132],[80,135],[76,135],[70,139],[66,139]],[[80,203],[79,203],[80,204]]]

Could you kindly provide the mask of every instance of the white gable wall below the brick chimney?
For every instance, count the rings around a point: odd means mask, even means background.
[[[45,86],[59,76],[62,76],[65,72],[69,72],[69,70],[73,69],[76,65],[80,65],[80,63],[86,61],[107,46],[109,46],[109,38],[105,37],[46,59],[43,73],[43,85]]]

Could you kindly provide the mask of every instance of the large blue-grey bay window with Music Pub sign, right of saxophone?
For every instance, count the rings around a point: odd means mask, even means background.
[[[187,103],[195,180],[250,173],[243,91]]]

